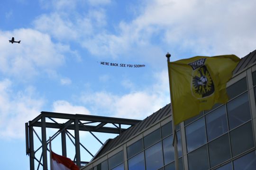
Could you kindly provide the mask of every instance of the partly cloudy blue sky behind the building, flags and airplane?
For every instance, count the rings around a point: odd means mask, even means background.
[[[41,111],[145,119],[164,107],[167,52],[174,61],[256,50],[255,9],[255,0],[1,0],[1,169],[29,170],[25,123]]]

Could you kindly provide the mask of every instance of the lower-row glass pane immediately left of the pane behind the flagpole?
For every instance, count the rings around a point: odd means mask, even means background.
[[[164,166],[161,142],[145,150],[146,170],[157,170]]]

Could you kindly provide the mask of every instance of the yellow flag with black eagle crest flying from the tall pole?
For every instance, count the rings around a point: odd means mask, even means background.
[[[226,84],[240,59],[235,55],[196,56],[168,63],[174,124],[228,102]]]

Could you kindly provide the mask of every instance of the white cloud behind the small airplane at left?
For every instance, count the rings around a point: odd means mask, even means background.
[[[8,43],[12,36],[21,40],[20,44]],[[55,69],[64,63],[64,52],[72,51],[36,30],[0,31],[0,71],[8,76],[29,79],[39,72]]]

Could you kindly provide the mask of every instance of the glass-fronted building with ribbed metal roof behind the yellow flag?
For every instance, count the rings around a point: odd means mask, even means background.
[[[241,59],[227,92],[229,102],[176,127],[180,170],[256,170],[256,51]],[[170,110],[106,141],[82,170],[174,170]]]

